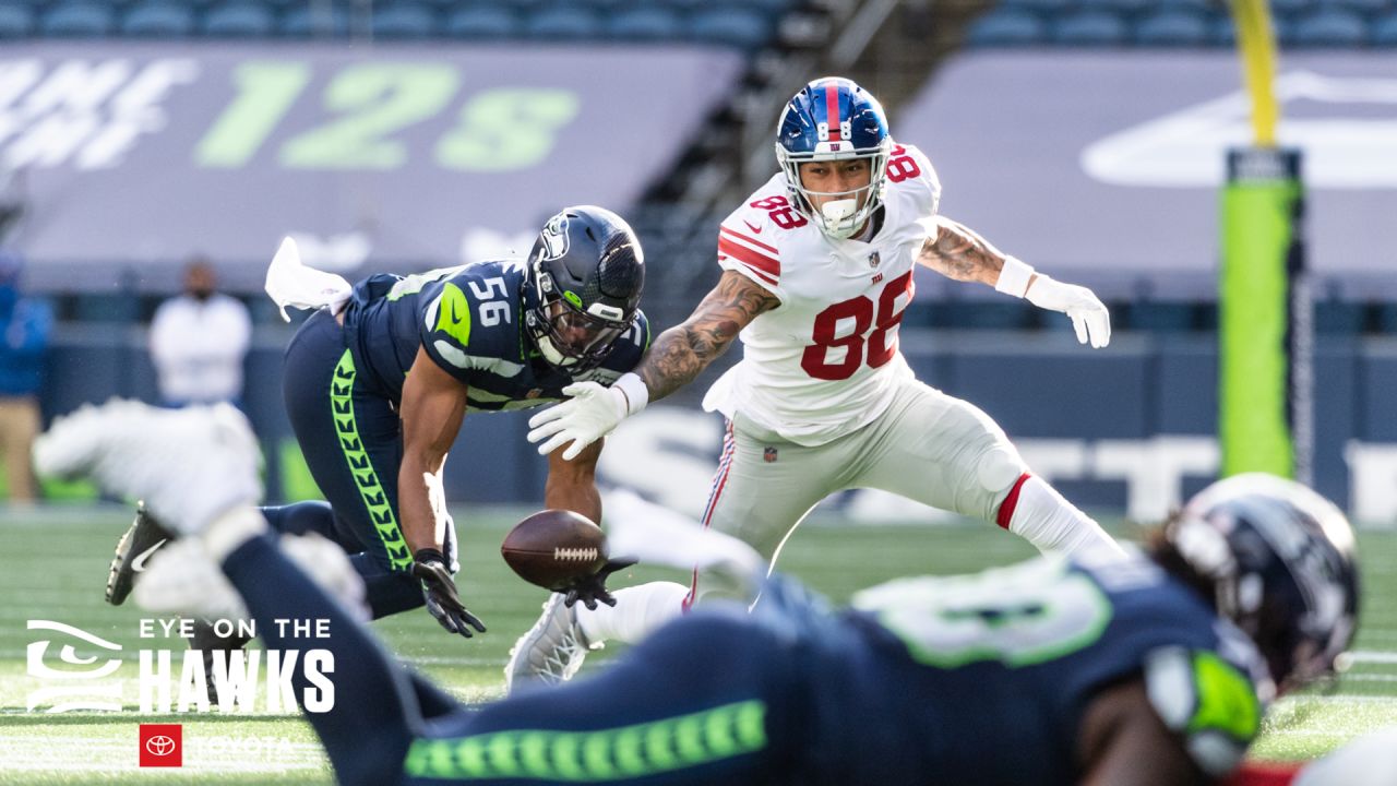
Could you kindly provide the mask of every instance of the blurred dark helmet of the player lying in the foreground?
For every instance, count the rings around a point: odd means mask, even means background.
[[[1331,502],[1275,476],[1234,476],[1193,496],[1164,540],[1211,583],[1277,687],[1333,671],[1358,622],[1358,566],[1354,530]]]

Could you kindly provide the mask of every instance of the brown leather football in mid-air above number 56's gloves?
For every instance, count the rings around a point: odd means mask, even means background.
[[[580,513],[539,510],[514,524],[500,554],[525,582],[557,590],[606,565],[606,534]]]

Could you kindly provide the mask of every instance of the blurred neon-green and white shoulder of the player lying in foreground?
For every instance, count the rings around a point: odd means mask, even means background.
[[[1261,729],[1246,673],[1211,650],[1161,648],[1146,656],[1146,691],[1164,724],[1208,775],[1232,772]]]

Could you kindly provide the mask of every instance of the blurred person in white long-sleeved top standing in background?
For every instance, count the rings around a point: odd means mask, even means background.
[[[166,406],[240,403],[251,319],[217,287],[208,260],[194,257],[184,269],[184,294],[155,310],[151,359]]]

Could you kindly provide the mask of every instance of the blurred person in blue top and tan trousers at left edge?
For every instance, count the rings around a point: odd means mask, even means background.
[[[10,501],[38,498],[29,448],[39,434],[39,369],[53,329],[49,305],[20,296],[22,260],[0,252],[0,459]]]

